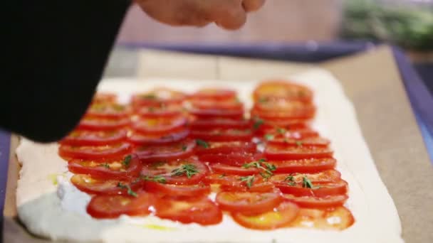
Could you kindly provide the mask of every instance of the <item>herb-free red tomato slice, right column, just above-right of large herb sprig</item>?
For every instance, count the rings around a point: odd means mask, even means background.
[[[289,160],[303,158],[330,158],[333,151],[330,148],[318,146],[276,146],[268,145],[264,155],[268,160]]]

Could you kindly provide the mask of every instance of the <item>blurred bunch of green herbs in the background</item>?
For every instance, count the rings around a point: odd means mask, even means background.
[[[433,50],[433,1],[344,1],[341,36]]]

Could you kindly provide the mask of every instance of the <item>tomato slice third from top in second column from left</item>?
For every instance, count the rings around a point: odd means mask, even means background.
[[[165,135],[173,131],[179,131],[179,129],[187,125],[187,121],[187,117],[183,116],[142,118],[135,121],[135,123],[132,124],[132,128],[145,135]]]

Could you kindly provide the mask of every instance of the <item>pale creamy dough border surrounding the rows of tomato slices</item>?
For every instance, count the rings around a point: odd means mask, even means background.
[[[338,171],[349,183],[346,203],[355,224],[343,231],[286,228],[257,231],[237,225],[224,216],[219,225],[202,227],[179,225],[156,217],[122,216],[117,220],[95,220],[85,212],[89,196],[77,190],[68,178],[66,161],[57,144],[36,144],[21,139],[16,155],[22,165],[16,191],[18,215],[33,234],[48,239],[81,242],[404,242],[400,218],[394,202],[380,179],[367,144],[362,137],[353,104],[340,82],[330,72],[318,68],[288,80],[311,87],[318,108],[313,126],[330,139],[338,160]],[[171,87],[192,92],[201,87],[229,87],[239,92],[246,107],[259,81],[110,79],[98,90],[116,92],[120,99],[153,87]],[[35,128],[37,129],[37,128]],[[53,177],[58,181],[54,185]],[[149,229],[144,225],[163,225],[170,229]]]

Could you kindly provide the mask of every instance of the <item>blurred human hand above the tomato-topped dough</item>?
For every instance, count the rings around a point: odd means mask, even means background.
[[[172,26],[206,26],[216,23],[235,30],[246,22],[265,0],[135,0],[145,13]]]

